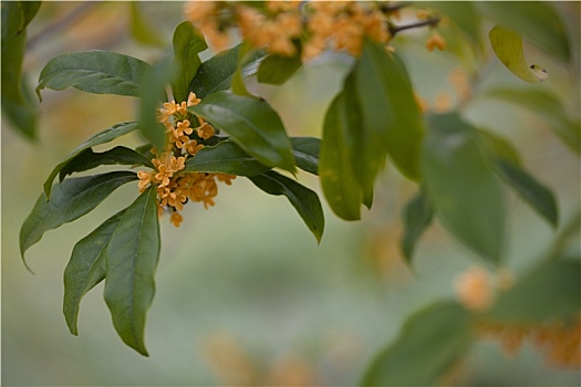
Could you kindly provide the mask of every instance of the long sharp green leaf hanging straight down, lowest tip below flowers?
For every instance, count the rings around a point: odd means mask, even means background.
[[[156,197],[155,187],[149,187],[125,210],[105,252],[104,297],[113,325],[123,342],[144,356],[145,318],[160,248]]]

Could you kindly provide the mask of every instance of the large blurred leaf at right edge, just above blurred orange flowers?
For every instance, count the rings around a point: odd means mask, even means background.
[[[580,272],[579,260],[542,262],[501,293],[485,317],[513,324],[577,317],[581,305]]]

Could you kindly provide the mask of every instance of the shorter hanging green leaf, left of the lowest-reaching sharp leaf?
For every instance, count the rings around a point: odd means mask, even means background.
[[[79,335],[76,321],[83,296],[105,279],[105,250],[125,210],[108,218],[73,248],[64,269],[63,313],[73,335]]]

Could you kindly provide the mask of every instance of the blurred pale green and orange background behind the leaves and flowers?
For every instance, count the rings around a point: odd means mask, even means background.
[[[572,46],[579,48],[579,3],[558,6],[568,15]],[[183,19],[181,7],[139,3],[167,43]],[[428,53],[426,33],[406,34],[395,45],[418,94],[433,103],[442,92],[452,95],[447,75],[460,62],[450,53]],[[164,50],[136,42],[126,2],[45,2],[29,28],[29,41],[24,69],[31,85],[61,53],[98,49],[155,61]],[[492,60],[481,90],[546,87],[579,116],[579,66],[571,82],[567,69],[539,52],[529,54],[542,61],[549,82],[523,85]],[[290,135],[320,136],[324,109],[347,67],[347,59],[331,55],[310,63],[283,87],[251,86],[279,111]],[[455,275],[478,263],[437,223],[423,237],[413,270],[403,263],[400,212],[415,187],[390,166],[361,222],[342,221],[324,208],[320,245],[284,199],[238,178],[231,187],[220,185],[210,210],[186,206],[180,228],[160,219],[157,291],[146,327],[151,357],[117,337],[102,284],[85,296],[80,336],[72,336],[61,312],[62,274],[72,248],[127,206],[137,187],[123,187],[89,216],[46,233],[27,254],[35,275],[19,257],[19,229],[52,167],[91,135],[134,119],[136,101],[44,91],[40,111],[34,143],[2,119],[3,386],[354,385],[409,313],[453,297]],[[465,115],[513,142],[528,170],[556,192],[567,220],[579,206],[579,159],[547,125],[525,109],[486,98],[474,101]],[[117,143],[143,140],[135,135]],[[300,180],[320,192],[315,178],[300,175]],[[516,197],[509,196],[509,205],[507,265],[518,278],[548,250],[554,231]],[[530,346],[508,359],[498,343],[481,341],[452,383],[573,386],[580,374],[546,367]]]

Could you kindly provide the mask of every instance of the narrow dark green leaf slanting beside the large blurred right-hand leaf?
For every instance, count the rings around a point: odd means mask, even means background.
[[[495,163],[500,176],[525,199],[535,210],[537,210],[553,227],[559,223],[557,201],[551,190],[537,181],[526,170],[513,164],[497,159]]]

